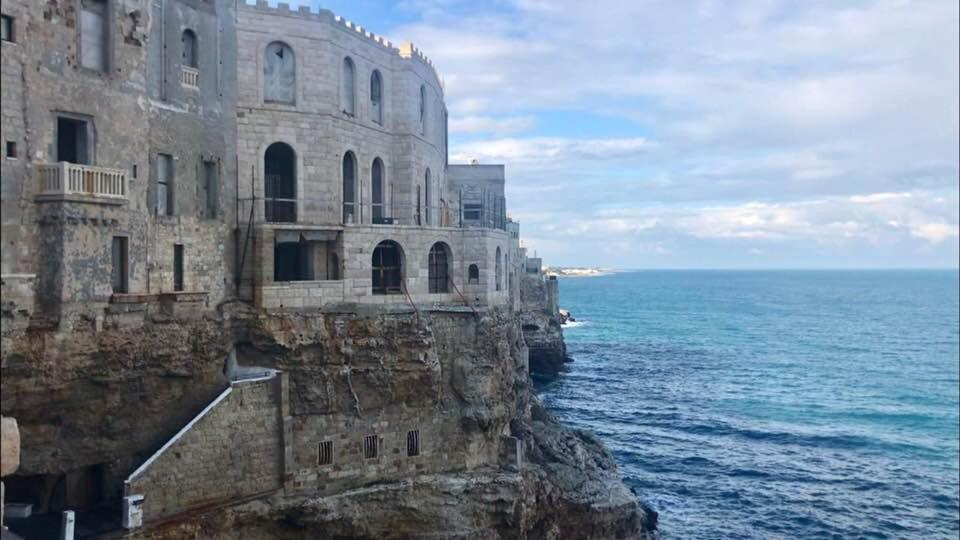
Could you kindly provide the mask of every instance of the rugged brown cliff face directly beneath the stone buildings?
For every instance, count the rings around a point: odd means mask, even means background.
[[[73,472],[106,464],[105,498],[115,504],[118,482],[222,390],[234,343],[241,363],[289,376],[294,444],[284,489],[181,514],[134,537],[655,534],[655,514],[638,505],[602,445],[542,408],[517,316],[497,310],[238,313],[5,335],[2,405],[21,423],[18,475],[44,475],[33,489],[55,490],[50,478],[69,486]],[[320,477],[316,454],[300,449],[315,452],[328,430],[352,437],[350,426],[388,431],[410,418],[428,437],[415,470],[387,461]],[[96,498],[75,491],[58,496]]]

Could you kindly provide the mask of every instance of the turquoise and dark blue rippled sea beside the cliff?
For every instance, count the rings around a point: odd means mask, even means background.
[[[664,538],[960,534],[956,271],[648,271],[560,283],[539,385]]]

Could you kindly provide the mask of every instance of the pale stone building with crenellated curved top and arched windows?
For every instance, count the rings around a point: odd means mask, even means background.
[[[241,5],[237,31],[241,275],[256,304],[505,304],[503,166],[448,166],[423,53],[283,4]],[[491,167],[492,181],[475,174]]]

